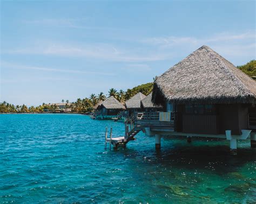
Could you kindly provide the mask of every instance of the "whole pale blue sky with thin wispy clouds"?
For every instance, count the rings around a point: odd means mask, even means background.
[[[202,45],[255,59],[255,1],[1,1],[0,101],[126,90]]]

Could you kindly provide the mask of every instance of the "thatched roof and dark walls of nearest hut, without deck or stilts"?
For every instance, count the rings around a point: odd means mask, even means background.
[[[152,102],[177,114],[184,133],[240,135],[248,129],[248,108],[256,82],[231,62],[202,46],[154,81]]]

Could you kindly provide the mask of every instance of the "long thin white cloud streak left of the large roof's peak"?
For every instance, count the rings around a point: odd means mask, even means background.
[[[108,44],[95,44],[84,46],[73,45],[57,45],[51,44],[48,46],[35,46],[28,48],[15,48],[3,51],[7,54],[38,54],[38,55],[56,55],[63,57],[86,57],[93,59],[101,59],[108,61],[157,61],[164,60],[170,55],[166,53],[147,53],[140,54],[138,51],[121,51],[120,49]],[[130,54],[132,53],[132,54]]]

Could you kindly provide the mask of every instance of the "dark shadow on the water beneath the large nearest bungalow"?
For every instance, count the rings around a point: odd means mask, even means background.
[[[147,165],[171,166],[187,170],[208,169],[217,174],[235,172],[245,164],[256,161],[256,149],[238,148],[238,154],[233,156],[227,145],[177,145],[170,148],[164,147],[161,150],[136,150],[126,147],[114,153],[138,163],[145,161],[146,158],[149,161]]]

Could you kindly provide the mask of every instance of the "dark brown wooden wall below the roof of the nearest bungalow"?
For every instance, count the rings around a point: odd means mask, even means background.
[[[184,133],[218,135],[231,130],[240,135],[242,129],[248,129],[248,105],[216,104],[215,114],[186,114],[185,105],[177,105],[175,130]]]

